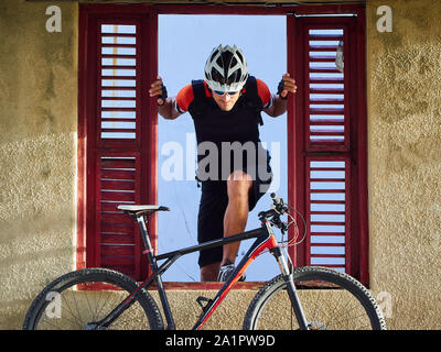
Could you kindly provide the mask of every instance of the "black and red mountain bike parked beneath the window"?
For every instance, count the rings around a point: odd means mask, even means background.
[[[194,330],[204,326],[245,270],[263,252],[276,257],[281,274],[263,285],[254,297],[245,315],[244,329],[386,329],[380,308],[358,280],[326,267],[293,267],[283,251],[292,244],[292,239],[279,244],[272,231],[272,227],[277,227],[284,234],[293,223],[280,219],[287,215],[294,220],[289,212],[291,207],[276,195],[271,194],[271,209],[258,215],[260,228],[160,255],[153,254],[147,221],[155,211],[170,209],[161,206],[118,206],[139,226],[151,275],[138,284],[122,273],[106,268],[84,268],[65,274],[33,300],[23,329],[125,329],[126,322],[132,319],[139,319],[138,327],[141,329],[176,329],[162,274],[182,255],[248,239],[255,239],[255,242],[215,297],[196,299],[202,312]],[[165,262],[158,265],[162,260]],[[147,290],[153,283],[166,326],[155,300]],[[116,299],[115,302],[109,301],[110,298]],[[56,302],[62,305],[63,314],[57,312]],[[287,324],[282,326],[282,322]]]

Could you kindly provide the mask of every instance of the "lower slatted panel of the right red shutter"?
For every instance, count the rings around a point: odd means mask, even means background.
[[[346,157],[306,157],[306,263],[347,272],[351,253],[351,179]]]

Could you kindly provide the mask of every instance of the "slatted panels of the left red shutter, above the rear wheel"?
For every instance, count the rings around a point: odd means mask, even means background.
[[[97,251],[99,266],[139,277],[139,237],[133,221],[116,209],[139,204],[139,24],[98,26]]]

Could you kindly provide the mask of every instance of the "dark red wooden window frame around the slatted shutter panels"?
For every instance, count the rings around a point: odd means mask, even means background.
[[[90,145],[87,139],[87,131],[90,131],[87,119],[93,109],[96,109],[96,89],[93,84],[94,77],[97,77],[97,68],[94,65],[88,65],[90,55],[93,55],[96,47],[89,41],[94,35],[93,21],[97,16],[104,15],[108,18],[127,19],[137,15],[148,15],[150,26],[146,31],[144,51],[149,48],[150,66],[147,68],[143,65],[141,73],[141,89],[146,91],[150,82],[155,79],[158,75],[158,15],[159,14],[247,14],[247,15],[286,15],[287,18],[287,43],[288,43],[288,70],[301,73],[299,65],[301,65],[293,48],[301,38],[297,32],[298,23],[295,15],[310,15],[310,14],[333,14],[345,13],[356,14],[359,19],[357,24],[357,41],[356,45],[358,67],[363,69],[355,70],[357,80],[357,95],[356,110],[358,116],[359,128],[356,130],[356,140],[358,147],[356,150],[357,157],[357,177],[356,183],[362,196],[355,195],[357,204],[357,212],[359,216],[356,218],[357,228],[359,229],[359,253],[357,260],[357,278],[365,285],[368,285],[368,219],[367,219],[367,123],[366,123],[366,77],[365,77],[365,8],[362,4],[341,4],[341,6],[298,6],[298,7],[263,7],[263,6],[200,6],[200,4],[79,4],[79,43],[78,43],[78,152],[77,152],[77,254],[76,267],[83,268],[93,266],[94,258],[89,258],[87,248],[90,240],[86,235],[87,229],[93,227],[90,220],[87,218],[87,208],[94,200],[87,197],[88,174],[93,174],[94,168],[90,168],[92,161],[88,158]],[[295,14],[295,15],[294,15]],[[87,38],[87,40],[85,40]],[[355,77],[355,76],[354,76]],[[295,77],[297,78],[297,77]],[[146,89],[147,88],[147,89]],[[94,100],[95,97],[95,100]],[[157,172],[148,173],[148,169],[158,169],[158,107],[154,103],[149,103],[149,99],[141,99],[142,103],[142,133],[150,141],[144,145],[141,163],[142,172],[149,175],[148,183],[143,185],[141,190],[143,201],[147,204],[157,204],[158,200],[158,174]],[[295,98],[289,97],[288,111],[287,111],[287,128],[288,128],[288,201],[295,205],[299,211],[304,209],[305,190],[301,185],[304,185],[304,165],[297,165],[297,161],[301,160],[300,150],[304,135],[297,133],[299,128],[303,131],[304,121],[301,121],[301,96]],[[304,164],[304,163],[303,163]],[[354,180],[352,180],[354,183]],[[148,231],[152,240],[153,246],[157,249],[158,240],[158,219],[157,216],[150,219],[148,223]],[[290,248],[291,257],[297,265],[305,264],[305,249],[304,245]],[[86,255],[87,254],[87,255]],[[144,262],[146,263],[146,262]],[[141,265],[141,267],[147,267]],[[147,272],[142,272],[146,276]],[[216,289],[220,287],[220,283],[165,283],[168,287],[175,289]],[[236,288],[255,288],[259,283],[238,283]]]

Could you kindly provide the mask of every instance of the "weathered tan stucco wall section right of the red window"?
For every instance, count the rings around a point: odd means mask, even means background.
[[[441,328],[440,14],[438,0],[367,1],[370,280],[394,329]]]

